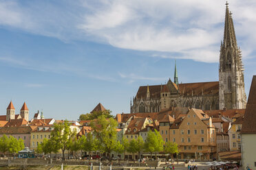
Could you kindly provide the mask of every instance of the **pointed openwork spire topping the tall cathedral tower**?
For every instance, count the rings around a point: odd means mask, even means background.
[[[232,45],[237,47],[237,40],[235,38],[235,28],[232,19],[232,13],[229,12],[228,3],[226,2],[226,16],[225,16],[225,27],[224,27],[224,46]]]

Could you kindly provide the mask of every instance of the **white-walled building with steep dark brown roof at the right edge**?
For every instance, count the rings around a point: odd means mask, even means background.
[[[244,122],[242,124],[242,165],[243,169],[256,169],[256,76],[253,76]]]

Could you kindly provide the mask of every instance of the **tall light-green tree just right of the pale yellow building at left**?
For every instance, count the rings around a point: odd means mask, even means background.
[[[63,160],[65,160],[65,150],[70,149],[72,137],[74,133],[70,130],[70,123],[54,123],[54,130],[51,132],[52,141],[56,144],[56,148],[61,149]]]

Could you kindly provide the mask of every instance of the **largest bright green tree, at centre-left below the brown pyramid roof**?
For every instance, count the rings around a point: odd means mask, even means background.
[[[115,119],[106,119],[101,115],[90,123],[95,137],[98,139],[98,149],[100,152],[110,156],[110,152],[116,147],[116,127],[118,123]]]

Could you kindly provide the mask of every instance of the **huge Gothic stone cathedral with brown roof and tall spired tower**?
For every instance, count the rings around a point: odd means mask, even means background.
[[[242,51],[237,46],[231,12],[226,3],[224,38],[220,45],[219,82],[178,83],[175,64],[173,82],[140,86],[131,101],[131,113],[160,112],[172,107],[202,110],[244,109],[244,68]]]

